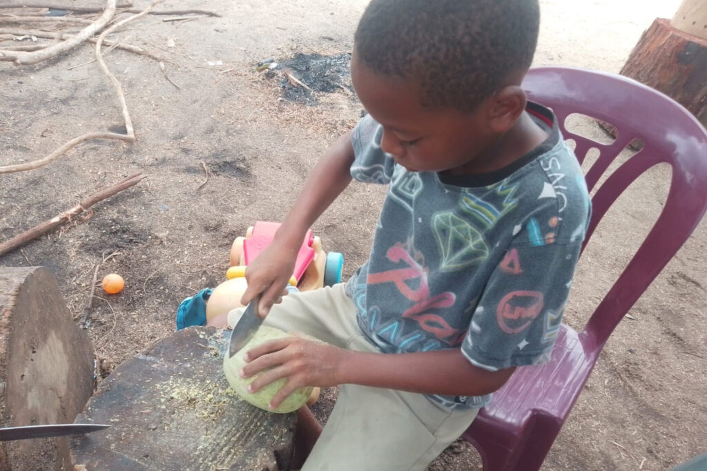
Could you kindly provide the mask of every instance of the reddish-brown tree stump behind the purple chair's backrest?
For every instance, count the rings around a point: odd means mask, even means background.
[[[658,18],[643,33],[621,75],[665,93],[707,124],[707,40]]]

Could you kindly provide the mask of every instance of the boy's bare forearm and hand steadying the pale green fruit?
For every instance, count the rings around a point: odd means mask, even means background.
[[[266,342],[247,352],[242,377],[259,374],[250,385],[256,392],[287,378],[271,407],[297,388],[353,383],[376,388],[440,395],[485,395],[501,388],[515,368],[487,371],[472,365],[460,349],[403,354],[344,350],[303,338]],[[269,369],[271,368],[271,369]],[[263,371],[269,369],[267,371]]]

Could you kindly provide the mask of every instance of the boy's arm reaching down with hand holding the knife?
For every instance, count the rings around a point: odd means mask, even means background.
[[[354,148],[349,132],[335,141],[317,163],[273,243],[246,268],[248,287],[241,298],[244,306],[262,293],[258,311],[261,316],[267,315],[292,275],[305,233],[349,185],[352,162]]]

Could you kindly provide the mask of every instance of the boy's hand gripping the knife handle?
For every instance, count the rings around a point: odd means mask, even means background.
[[[275,240],[245,268],[248,287],[240,299],[243,306],[261,294],[258,314],[265,317],[273,304],[281,302],[295,270],[297,249]]]

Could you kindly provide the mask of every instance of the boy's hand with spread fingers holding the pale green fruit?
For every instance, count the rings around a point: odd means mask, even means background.
[[[337,386],[337,369],[345,354],[346,350],[305,338],[280,338],[248,350],[244,357],[247,365],[240,371],[240,377],[249,378],[271,368],[250,383],[250,393],[256,393],[280,378],[287,378],[285,386],[270,401],[270,407],[274,409],[298,388]]]

